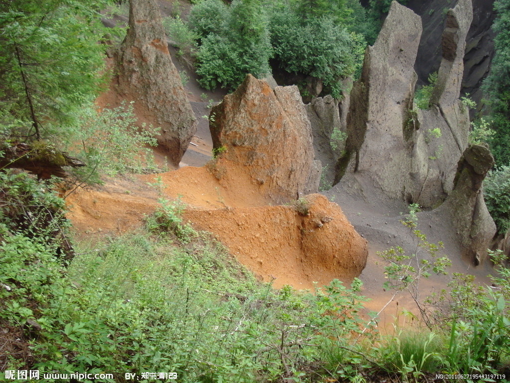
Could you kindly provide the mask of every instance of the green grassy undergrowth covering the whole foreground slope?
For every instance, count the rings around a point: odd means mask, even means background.
[[[440,372],[497,374],[508,366],[506,268],[496,292],[455,276],[436,298],[429,328],[382,336],[359,315],[359,280],[350,287],[335,280],[313,294],[275,290],[210,234],[187,227],[178,201],[162,201],[146,229],[78,244],[66,261],[53,235],[56,227],[65,234],[61,217],[34,208],[57,203],[49,185],[12,174],[1,180],[2,378],[39,370],[111,373],[96,381],[112,382],[133,381],[126,373],[158,381],[143,374],[159,372],[175,372],[179,382],[431,381]],[[15,208],[20,198],[31,211]],[[37,228],[15,225],[23,214]]]

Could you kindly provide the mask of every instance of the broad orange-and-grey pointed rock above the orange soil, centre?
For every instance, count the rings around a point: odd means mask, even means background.
[[[253,184],[274,201],[316,192],[320,163],[314,161],[310,122],[296,86],[272,90],[248,75],[211,110],[216,169],[244,166]]]

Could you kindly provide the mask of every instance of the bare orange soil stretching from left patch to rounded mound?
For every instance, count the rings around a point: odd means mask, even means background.
[[[349,281],[365,267],[366,241],[340,207],[323,196],[308,196],[309,212],[302,216],[291,206],[267,206],[259,186],[234,167],[220,180],[207,167],[184,167],[160,177],[164,194],[181,196],[189,204],[185,219],[214,233],[261,279],[274,278],[276,288],[290,284],[310,289],[314,281],[322,285],[334,278]],[[136,182],[110,182],[102,190],[74,193],[68,198],[69,218],[89,234],[139,227],[157,207],[156,190],[147,186],[155,178],[139,176]]]

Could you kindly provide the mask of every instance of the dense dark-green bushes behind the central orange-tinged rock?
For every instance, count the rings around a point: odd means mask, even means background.
[[[358,0],[234,0],[230,6],[203,0],[191,9],[188,23],[198,34],[202,86],[235,88],[247,73],[264,77],[271,74],[272,59],[290,74],[322,81],[335,97],[340,80],[361,67],[362,31],[369,24]]]

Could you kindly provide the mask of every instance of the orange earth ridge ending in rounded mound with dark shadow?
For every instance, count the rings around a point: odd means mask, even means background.
[[[365,268],[367,242],[337,204],[310,195],[299,206],[187,209],[195,228],[213,232],[236,258],[273,286],[349,282]],[[303,210],[304,209],[304,210]],[[296,285],[300,281],[301,285]]]

